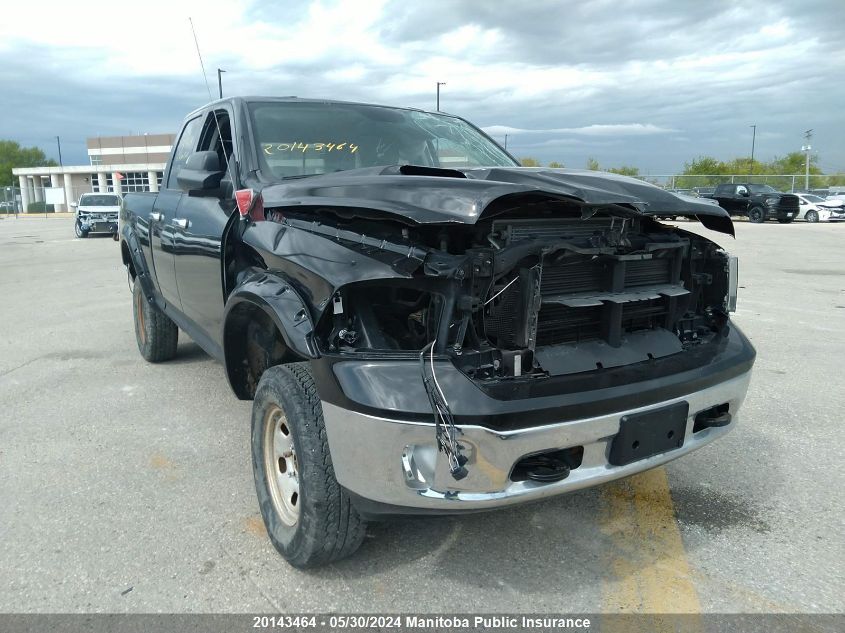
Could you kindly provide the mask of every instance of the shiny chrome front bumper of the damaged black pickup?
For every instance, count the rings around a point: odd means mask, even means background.
[[[491,431],[459,426],[459,441],[468,457],[466,478],[455,481],[445,455],[437,451],[433,424],[401,422],[356,413],[323,402],[323,418],[338,482],[364,499],[418,510],[481,510],[531,501],[595,486],[654,468],[701,448],[737,424],[737,411],[748,390],[751,372],[708,389],[610,415],[520,429]],[[684,444],[624,466],[608,462],[620,418],[649,409],[689,403]],[[693,433],[697,413],[730,404],[732,420],[723,427]],[[584,447],[581,465],[562,481],[512,481],[514,464],[526,455]]]

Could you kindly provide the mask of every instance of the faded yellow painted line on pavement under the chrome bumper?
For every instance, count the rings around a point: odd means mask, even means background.
[[[612,482],[602,489],[602,501],[601,531],[610,543],[602,611],[700,613],[666,470],[656,468]],[[674,630],[660,618],[638,622],[642,630]],[[627,631],[637,630],[632,628],[637,626],[634,622],[624,624]],[[701,628],[698,618],[684,621],[687,631]]]

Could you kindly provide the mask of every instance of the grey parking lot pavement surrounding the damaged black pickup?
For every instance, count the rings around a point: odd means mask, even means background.
[[[734,432],[542,503],[373,524],[303,572],[258,513],[250,403],[184,335],[141,359],[118,244],[0,220],[0,612],[842,612],[845,224],[694,230],[740,256],[758,358]]]

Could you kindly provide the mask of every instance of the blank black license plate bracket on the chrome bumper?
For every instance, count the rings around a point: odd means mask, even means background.
[[[688,402],[623,415],[619,433],[610,444],[608,461],[613,466],[624,466],[680,448],[684,445],[688,415]]]

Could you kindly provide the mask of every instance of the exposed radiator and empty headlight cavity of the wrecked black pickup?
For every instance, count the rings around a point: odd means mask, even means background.
[[[431,345],[491,385],[646,362],[723,336],[735,292],[729,256],[705,238],[617,213],[548,203],[529,218],[382,238],[378,247],[406,254],[414,270],[338,288],[318,345],[369,358]]]

